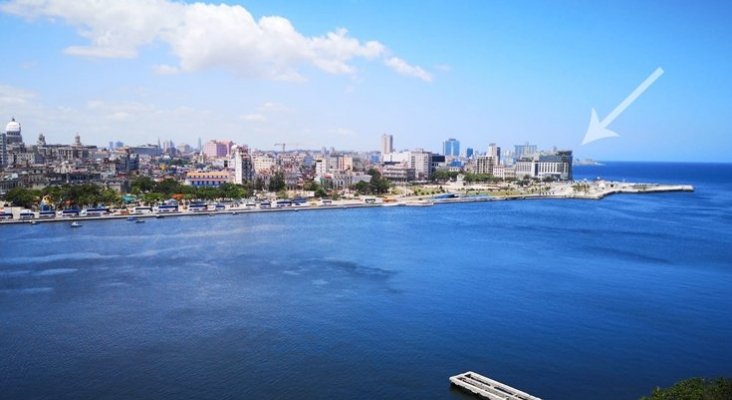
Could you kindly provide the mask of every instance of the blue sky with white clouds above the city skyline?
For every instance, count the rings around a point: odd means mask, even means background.
[[[725,1],[0,1],[0,121],[27,143],[377,150],[388,133],[732,162],[730,20]],[[582,145],[592,109],[659,67],[620,136]]]

